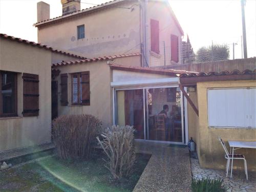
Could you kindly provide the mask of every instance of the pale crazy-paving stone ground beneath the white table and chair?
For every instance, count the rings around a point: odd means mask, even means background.
[[[235,170],[232,173],[232,179],[226,178],[225,170],[206,169],[200,168],[198,159],[190,158],[191,171],[193,178],[202,179],[203,177],[209,177],[211,179],[222,178],[224,183],[230,186],[229,191],[239,192],[255,192],[256,191],[256,174],[248,173],[248,180],[243,171]]]

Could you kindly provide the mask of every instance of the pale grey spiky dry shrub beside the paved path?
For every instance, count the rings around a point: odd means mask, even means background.
[[[105,167],[108,168],[114,179],[129,176],[135,162],[133,126],[112,126],[103,130],[103,140],[97,140],[108,157]]]

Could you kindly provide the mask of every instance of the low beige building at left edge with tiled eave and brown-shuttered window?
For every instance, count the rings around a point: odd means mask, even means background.
[[[51,142],[51,63],[74,54],[0,34],[0,152]]]

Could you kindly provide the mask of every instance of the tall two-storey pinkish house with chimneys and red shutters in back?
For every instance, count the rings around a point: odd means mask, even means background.
[[[62,16],[50,19],[50,6],[38,3],[38,14],[46,13],[34,24],[38,42],[88,58],[140,53],[132,65],[142,67],[180,65],[183,31],[167,1],[112,1],[81,11],[75,4],[62,2]]]

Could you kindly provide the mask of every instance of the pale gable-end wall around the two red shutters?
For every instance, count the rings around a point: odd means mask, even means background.
[[[164,44],[165,44],[165,65],[179,65],[181,61],[181,32],[177,25],[175,25],[173,16],[170,14],[170,9],[165,3],[161,1],[148,1],[148,37],[150,33],[150,20],[155,19],[159,21],[159,48],[160,54],[156,54],[150,51],[150,66],[163,66],[164,65]],[[170,35],[176,35],[179,37],[179,62],[172,61],[171,63],[171,51],[170,51]],[[149,38],[150,39],[150,38]],[[163,43],[164,41],[164,43]],[[148,50],[151,50],[150,40],[148,44]]]

